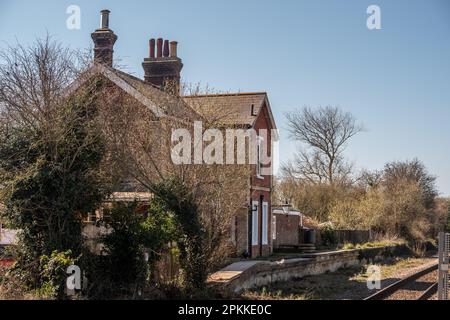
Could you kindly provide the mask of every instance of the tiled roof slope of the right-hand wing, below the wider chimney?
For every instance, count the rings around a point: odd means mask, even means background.
[[[252,126],[266,99],[265,92],[184,96],[198,113],[215,114],[227,124]],[[252,107],[253,106],[253,107]],[[253,108],[253,113],[252,113]]]

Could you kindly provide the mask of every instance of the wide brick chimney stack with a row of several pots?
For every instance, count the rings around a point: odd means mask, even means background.
[[[161,90],[179,95],[180,72],[183,64],[177,57],[177,42],[159,38],[150,39],[149,44],[150,55],[142,62],[145,81],[158,86]]]

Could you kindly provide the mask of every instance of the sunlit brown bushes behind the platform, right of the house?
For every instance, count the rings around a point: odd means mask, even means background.
[[[306,216],[336,229],[402,237],[417,251],[450,221],[448,200],[437,198],[436,178],[417,159],[387,163],[383,170],[363,171],[356,178],[323,183],[286,175],[276,186],[275,199],[288,199]],[[324,237],[325,243],[332,242],[326,232]]]

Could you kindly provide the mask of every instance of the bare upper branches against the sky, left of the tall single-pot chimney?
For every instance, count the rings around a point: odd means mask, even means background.
[[[64,90],[86,67],[84,56],[47,35],[30,47],[17,43],[0,52],[2,124],[36,129],[51,124]]]

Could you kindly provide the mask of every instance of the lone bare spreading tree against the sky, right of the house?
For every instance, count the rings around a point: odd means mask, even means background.
[[[363,130],[351,113],[338,107],[304,107],[287,113],[286,118],[291,139],[306,148],[283,165],[285,174],[330,184],[348,178],[351,165],[345,161],[343,151],[349,139]]]

